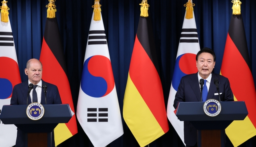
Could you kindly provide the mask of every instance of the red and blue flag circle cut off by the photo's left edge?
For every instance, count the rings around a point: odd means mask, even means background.
[[[21,82],[18,64],[11,58],[0,57],[0,71],[0,99],[8,99],[14,85]]]

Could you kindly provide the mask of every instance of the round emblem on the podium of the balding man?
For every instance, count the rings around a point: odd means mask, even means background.
[[[44,107],[40,103],[30,103],[26,109],[28,118],[36,121],[44,116]]]

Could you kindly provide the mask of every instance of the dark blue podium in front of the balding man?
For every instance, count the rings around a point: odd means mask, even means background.
[[[58,123],[68,123],[72,114],[68,104],[43,105],[44,116],[32,120],[26,114],[28,105],[4,105],[0,119],[4,124],[14,124],[23,133],[28,133],[28,147],[47,147],[47,133]]]

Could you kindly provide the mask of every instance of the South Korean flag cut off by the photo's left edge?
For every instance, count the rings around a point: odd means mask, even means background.
[[[1,113],[3,105],[10,105],[14,85],[21,82],[10,20],[9,22],[0,21],[0,71]],[[0,130],[0,146],[14,146],[17,136],[17,127],[15,125],[4,125],[3,122],[0,121]]]

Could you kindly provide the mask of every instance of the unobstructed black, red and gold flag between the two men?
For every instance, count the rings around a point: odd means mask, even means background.
[[[150,15],[139,20],[123,115],[141,147],[169,130]]]

